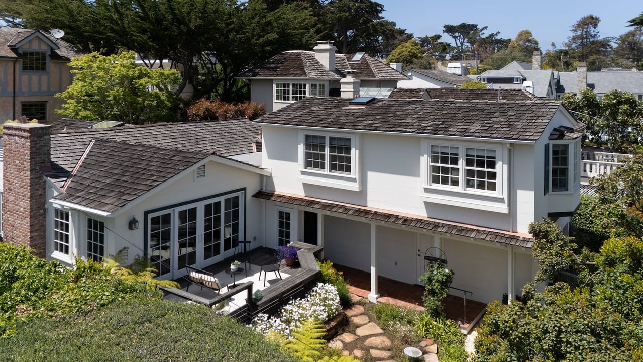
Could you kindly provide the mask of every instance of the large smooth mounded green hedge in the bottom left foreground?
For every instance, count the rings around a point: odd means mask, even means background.
[[[296,361],[202,305],[117,301],[86,316],[33,319],[0,341],[7,361]]]

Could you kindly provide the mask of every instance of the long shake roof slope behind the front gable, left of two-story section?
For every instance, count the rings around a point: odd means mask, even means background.
[[[208,122],[125,124],[113,128],[69,129],[51,133],[51,173],[64,181],[93,139],[230,157],[253,152],[260,127],[248,119]]]

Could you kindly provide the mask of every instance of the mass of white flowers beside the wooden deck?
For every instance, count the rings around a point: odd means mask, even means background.
[[[337,289],[327,283],[317,283],[302,299],[291,300],[276,316],[269,318],[259,314],[250,327],[267,336],[269,331],[291,336],[291,332],[301,327],[304,321],[317,318],[327,321],[341,312],[340,296]]]

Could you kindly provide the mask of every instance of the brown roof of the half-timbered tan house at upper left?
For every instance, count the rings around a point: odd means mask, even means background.
[[[71,58],[79,57],[80,55],[82,55],[82,52],[71,44],[62,39],[55,39],[53,36],[51,36],[50,33],[44,32],[42,30],[18,29],[1,26],[0,44],[2,45],[0,45],[0,57],[17,58],[18,53],[13,49],[15,44],[20,43],[23,39],[35,32],[41,33],[41,35],[44,35],[44,37],[49,39],[51,43],[55,43],[57,46],[59,46],[59,49],[52,50],[53,60],[59,59],[62,61],[69,61],[69,59]]]

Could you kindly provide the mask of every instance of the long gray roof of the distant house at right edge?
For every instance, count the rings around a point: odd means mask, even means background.
[[[560,71],[558,77],[557,93],[577,93],[577,72]],[[643,71],[588,71],[587,86],[599,94],[611,90],[643,94]]]

